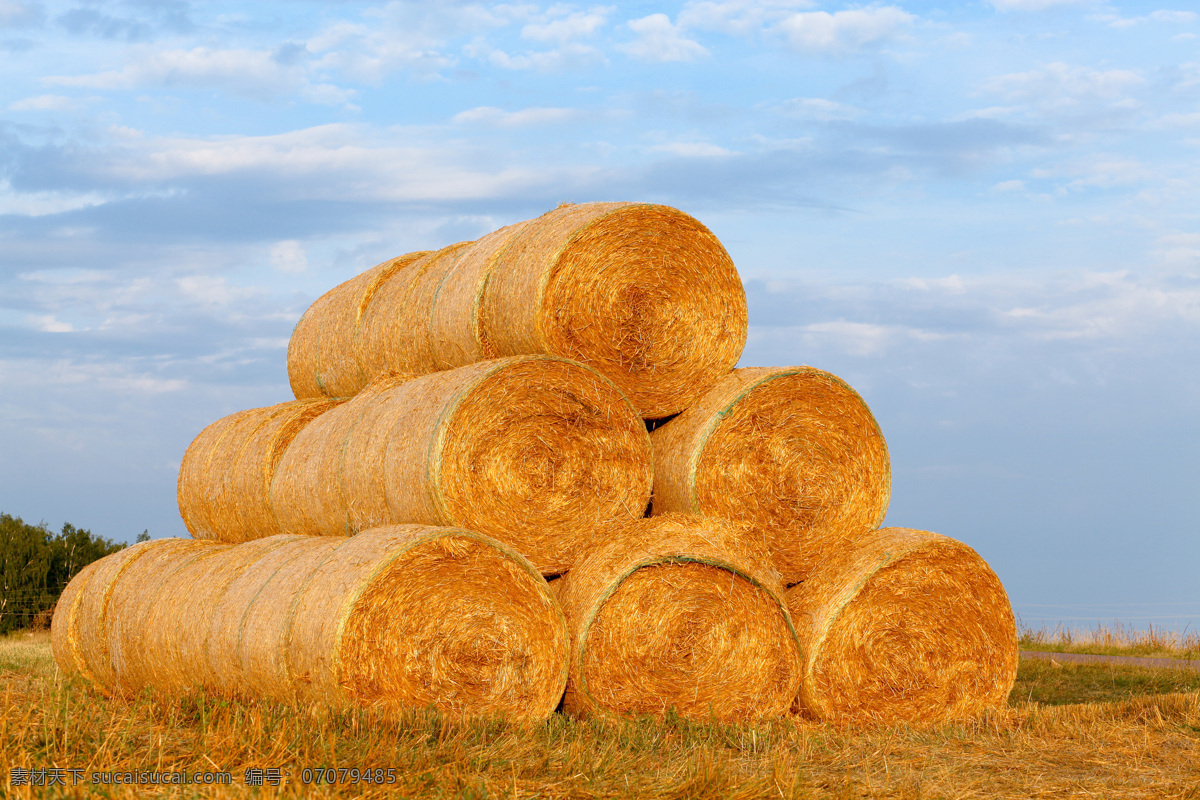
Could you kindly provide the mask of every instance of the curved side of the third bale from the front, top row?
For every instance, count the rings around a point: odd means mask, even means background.
[[[368,378],[437,369],[430,331],[433,295],[455,259],[473,243],[458,242],[424,255],[379,287],[359,324],[359,359]]]

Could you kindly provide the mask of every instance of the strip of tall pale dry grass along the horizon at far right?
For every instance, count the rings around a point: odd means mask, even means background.
[[[1022,650],[1090,652],[1100,656],[1142,656],[1148,658],[1200,660],[1200,631],[1170,631],[1148,625],[1144,628],[1097,624],[1096,627],[1021,627]]]

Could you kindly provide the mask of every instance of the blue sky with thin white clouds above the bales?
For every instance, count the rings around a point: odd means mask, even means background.
[[[1165,0],[1164,0],[1165,2]],[[887,524],[1028,622],[1200,625],[1200,14],[0,0],[0,510],[185,535],[312,300],[563,200],[692,213],[743,366],[866,398]]]

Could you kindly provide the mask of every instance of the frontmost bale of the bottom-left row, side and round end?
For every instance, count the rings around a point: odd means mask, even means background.
[[[548,717],[566,624],[533,565],[461,529],[397,525],[338,548],[293,600],[296,685],[326,702]]]

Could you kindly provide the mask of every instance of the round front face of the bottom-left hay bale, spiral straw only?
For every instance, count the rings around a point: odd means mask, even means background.
[[[566,686],[566,621],[523,558],[437,529],[380,565],[346,619],[341,684],[361,704],[545,720]]]

